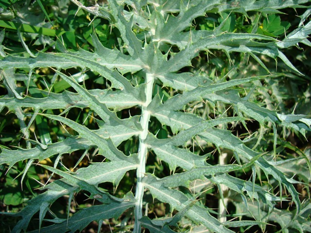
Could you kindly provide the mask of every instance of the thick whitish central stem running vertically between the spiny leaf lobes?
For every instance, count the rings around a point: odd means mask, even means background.
[[[136,193],[135,198],[137,200],[136,207],[135,207],[135,226],[134,226],[134,233],[140,233],[141,227],[139,219],[142,217],[142,199],[144,195],[144,185],[141,183],[141,179],[143,178],[146,172],[146,157],[147,157],[147,145],[145,144],[145,139],[148,134],[148,126],[150,120],[150,113],[147,110],[149,103],[152,100],[152,92],[153,92],[153,85],[154,85],[154,75],[147,73],[146,74],[146,81],[145,81],[145,94],[146,94],[146,101],[142,106],[141,117],[140,117],[140,124],[142,127],[142,132],[139,135],[139,148],[138,148],[138,159],[139,159],[139,166],[137,169],[137,186],[136,186]]]

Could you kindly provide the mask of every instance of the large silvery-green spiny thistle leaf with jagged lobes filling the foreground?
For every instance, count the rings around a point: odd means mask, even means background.
[[[307,0],[172,0],[172,1],[124,1],[110,0],[107,8],[104,6],[85,7],[77,1],[72,1],[80,8],[85,9],[96,17],[109,19],[119,30],[121,40],[119,49],[105,48],[96,36],[92,34],[94,52],[79,49],[72,52],[64,47],[59,40],[57,42],[57,53],[38,52],[31,57],[18,57],[4,54],[4,47],[0,47],[0,55],[4,57],[0,61],[1,76],[5,80],[5,87],[8,95],[0,98],[0,109],[8,108],[9,111],[17,114],[23,133],[29,127],[26,126],[22,108],[32,108],[37,114],[39,110],[61,109],[68,111],[70,108],[89,107],[97,114],[96,123],[98,130],[90,130],[83,124],[75,122],[64,116],[52,114],[40,114],[40,117],[47,117],[50,120],[61,122],[72,130],[79,133],[79,136],[70,136],[62,142],[48,145],[37,143],[35,148],[17,150],[3,149],[0,153],[0,165],[7,164],[9,168],[19,161],[27,161],[27,166],[35,161],[42,161],[53,155],[60,157],[62,154],[71,153],[76,150],[89,150],[92,147],[99,149],[99,154],[109,161],[93,163],[86,168],[80,168],[76,172],[64,172],[55,167],[43,166],[54,174],[63,177],[45,186],[44,193],[39,194],[28,205],[15,216],[21,216],[13,232],[26,231],[31,218],[39,212],[39,228],[45,218],[49,206],[59,197],[69,195],[69,202],[75,192],[86,190],[90,193],[90,199],[97,199],[103,204],[84,208],[67,219],[50,219],[55,223],[51,226],[41,228],[40,232],[64,232],[82,231],[89,222],[95,220],[100,226],[103,219],[119,217],[127,209],[135,208],[135,217],[142,214],[142,196],[133,197],[131,193],[123,199],[116,198],[108,192],[103,192],[98,188],[100,183],[110,182],[118,185],[126,172],[145,167],[144,159],[146,154],[140,154],[143,149],[153,150],[159,160],[168,163],[171,170],[181,168],[180,173],[173,174],[162,179],[156,178],[153,174],[142,172],[137,174],[136,185],[140,190],[147,188],[154,198],[161,202],[170,204],[171,209],[179,211],[178,214],[169,219],[150,219],[147,216],[136,219],[134,227],[136,232],[140,232],[140,225],[149,229],[150,232],[174,232],[170,226],[176,226],[183,216],[191,219],[193,223],[204,226],[204,230],[217,233],[232,233],[227,227],[262,225],[261,217],[253,214],[253,206],[247,202],[247,198],[252,198],[263,202],[269,208],[269,214],[275,207],[276,201],[285,200],[282,196],[276,197],[263,187],[241,180],[229,175],[229,172],[243,170],[249,166],[259,167],[267,176],[273,177],[279,187],[282,185],[291,194],[296,205],[293,215],[286,213],[287,223],[281,224],[286,228],[291,225],[294,229],[302,232],[310,230],[301,222],[301,216],[309,211],[309,206],[303,206],[298,193],[294,188],[294,179],[288,178],[273,162],[269,162],[263,154],[248,148],[239,137],[234,136],[230,131],[216,128],[218,125],[229,122],[245,121],[242,116],[248,116],[258,121],[261,125],[265,122],[279,124],[299,131],[303,135],[310,131],[310,119],[300,115],[280,115],[275,111],[260,107],[258,104],[250,102],[247,98],[241,98],[238,91],[232,89],[237,85],[251,83],[264,77],[250,77],[243,79],[225,79],[215,82],[201,74],[182,72],[182,69],[191,66],[191,59],[198,56],[201,51],[221,50],[230,59],[230,53],[247,53],[252,56],[261,67],[266,69],[266,65],[259,59],[259,55],[265,55],[273,59],[281,59],[288,67],[298,71],[279,48],[288,48],[297,43],[308,42],[310,34],[310,23],[294,30],[283,41],[275,38],[253,33],[225,33],[222,31],[223,25],[211,31],[192,30],[192,23],[197,17],[204,16],[208,12],[237,12],[249,17],[247,12],[258,11],[264,14],[279,13],[278,9],[286,7],[305,7]],[[148,4],[148,5],[147,5]],[[148,10],[147,10],[148,9]],[[173,14],[172,14],[173,13]],[[305,17],[306,18],[306,17]],[[133,28],[146,30],[146,40],[138,39]],[[190,29],[190,31],[188,30]],[[279,33],[279,32],[278,32]],[[3,33],[0,34],[2,42]],[[139,37],[140,38],[140,37]],[[142,37],[141,37],[142,38]],[[178,52],[170,52],[163,49],[165,46],[177,46]],[[28,50],[25,43],[23,46]],[[163,48],[162,48],[163,46]],[[23,76],[23,81],[33,79],[32,70],[40,67],[52,67],[55,70],[55,77],[60,77],[69,83],[77,93],[64,91],[61,94],[42,91],[42,98],[25,96],[25,89],[17,86],[18,77],[16,69],[31,70],[29,77]],[[70,77],[62,70],[80,67],[81,69],[91,69],[109,81],[105,90],[87,90],[74,78]],[[140,73],[140,81],[137,86],[133,86],[125,74]],[[142,77],[142,78],[141,78]],[[157,80],[155,80],[157,79]],[[154,95],[151,90],[154,82],[162,83],[163,86],[173,88],[178,94],[173,97],[160,100],[158,95]],[[52,90],[52,89],[51,89]],[[148,93],[147,93],[148,92]],[[216,103],[220,101],[225,104],[234,105],[236,113],[240,117],[223,117],[206,120],[199,115],[185,113],[182,110],[187,104],[193,101],[208,100]],[[139,116],[121,119],[116,112],[138,106],[141,108],[141,120]],[[144,116],[148,116],[147,120]],[[168,139],[158,139],[152,133],[148,133],[150,116],[156,117],[162,125],[171,127],[173,134]],[[98,118],[101,119],[98,119]],[[145,120],[145,121],[144,121]],[[142,132],[146,137],[142,137]],[[276,132],[275,132],[276,133]],[[139,137],[138,153],[126,156],[125,152],[118,150],[121,142],[132,136]],[[206,162],[206,155],[200,156],[189,150],[182,148],[192,138],[200,136],[201,139],[212,143],[217,149],[229,149],[234,154],[238,164],[214,165]],[[27,135],[26,138],[29,138]],[[28,143],[29,145],[29,143]],[[240,160],[241,158],[241,160]],[[244,163],[242,164],[241,161]],[[290,162],[290,161],[288,161]],[[254,168],[255,169],[255,168]],[[141,169],[145,170],[145,169]],[[141,176],[145,177],[141,179]],[[270,178],[270,177],[269,177]],[[231,190],[239,193],[243,200],[243,207],[252,216],[256,216],[256,221],[242,221],[240,223],[221,223],[211,216],[209,208],[201,207],[195,198],[179,191],[176,187],[189,187],[193,180],[206,180],[216,185],[224,184]],[[138,188],[139,189],[139,188]],[[137,189],[137,190],[138,190]],[[220,190],[221,191],[221,190]],[[247,196],[245,195],[245,192]],[[222,195],[222,194],[221,194]],[[280,194],[282,195],[282,194]],[[140,209],[138,209],[140,208]],[[243,209],[244,210],[244,209]],[[261,214],[266,211],[263,209]],[[245,211],[243,211],[245,212]],[[260,211],[257,212],[260,215]],[[309,212],[308,212],[309,213]],[[282,212],[283,214],[283,212]],[[303,219],[306,217],[303,216]],[[274,220],[273,218],[271,218]],[[271,220],[270,219],[270,220]],[[289,224],[288,224],[289,223]],[[140,225],[139,225],[140,224]],[[36,231],[37,232],[37,231]]]

